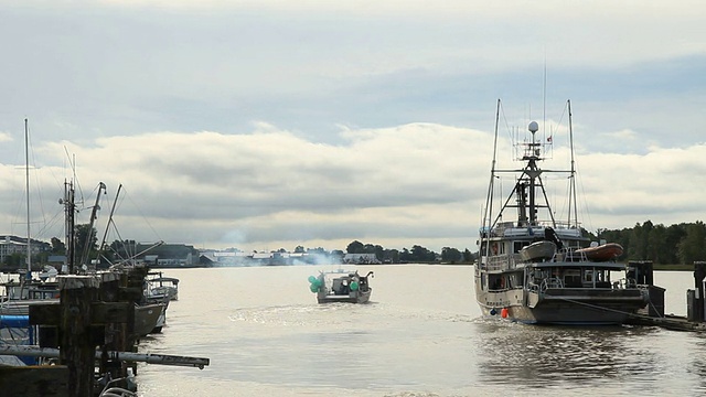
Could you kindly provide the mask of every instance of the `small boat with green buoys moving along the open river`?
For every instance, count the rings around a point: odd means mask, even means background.
[[[309,289],[317,293],[319,303],[366,303],[373,292],[368,277],[374,277],[373,271],[365,276],[359,275],[357,270],[322,271],[318,277],[309,276]]]

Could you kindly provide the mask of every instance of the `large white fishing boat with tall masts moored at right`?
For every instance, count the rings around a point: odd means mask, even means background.
[[[479,260],[475,265],[475,297],[486,315],[539,324],[622,324],[648,303],[646,290],[628,278],[624,264],[591,260],[578,249],[589,238],[578,222],[571,107],[568,109],[570,168],[543,170],[545,149],[552,136],[537,135],[530,122],[525,142],[515,143],[522,167],[499,169],[498,121],[490,185],[480,229]],[[501,103],[498,101],[498,115]],[[499,117],[496,117],[496,120]],[[547,198],[543,174],[563,174],[568,182],[568,215],[556,218]],[[512,192],[499,208],[495,186],[512,175]],[[501,192],[502,194],[502,192]],[[512,214],[515,213],[516,215]],[[515,217],[513,221],[504,216]],[[543,243],[546,242],[546,243]]]

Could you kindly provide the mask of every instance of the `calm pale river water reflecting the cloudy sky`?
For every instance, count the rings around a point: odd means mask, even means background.
[[[331,266],[167,269],[181,280],[142,353],[207,357],[203,371],[139,364],[138,391],[174,396],[696,396],[706,334],[483,319],[470,266],[359,266],[368,304],[318,304]],[[657,271],[686,314],[692,272]]]

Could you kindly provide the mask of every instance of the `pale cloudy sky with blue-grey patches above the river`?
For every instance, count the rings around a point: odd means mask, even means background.
[[[110,240],[474,250],[498,99],[500,137],[536,119],[554,160],[570,99],[587,229],[703,221],[704,21],[682,0],[0,0],[0,234],[26,233],[26,118],[38,238],[63,238],[74,180],[78,223],[107,185],[100,235],[122,185]]]

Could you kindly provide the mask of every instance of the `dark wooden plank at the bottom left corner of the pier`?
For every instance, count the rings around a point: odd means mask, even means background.
[[[0,366],[0,390],[3,396],[68,396],[68,368],[65,365]]]

